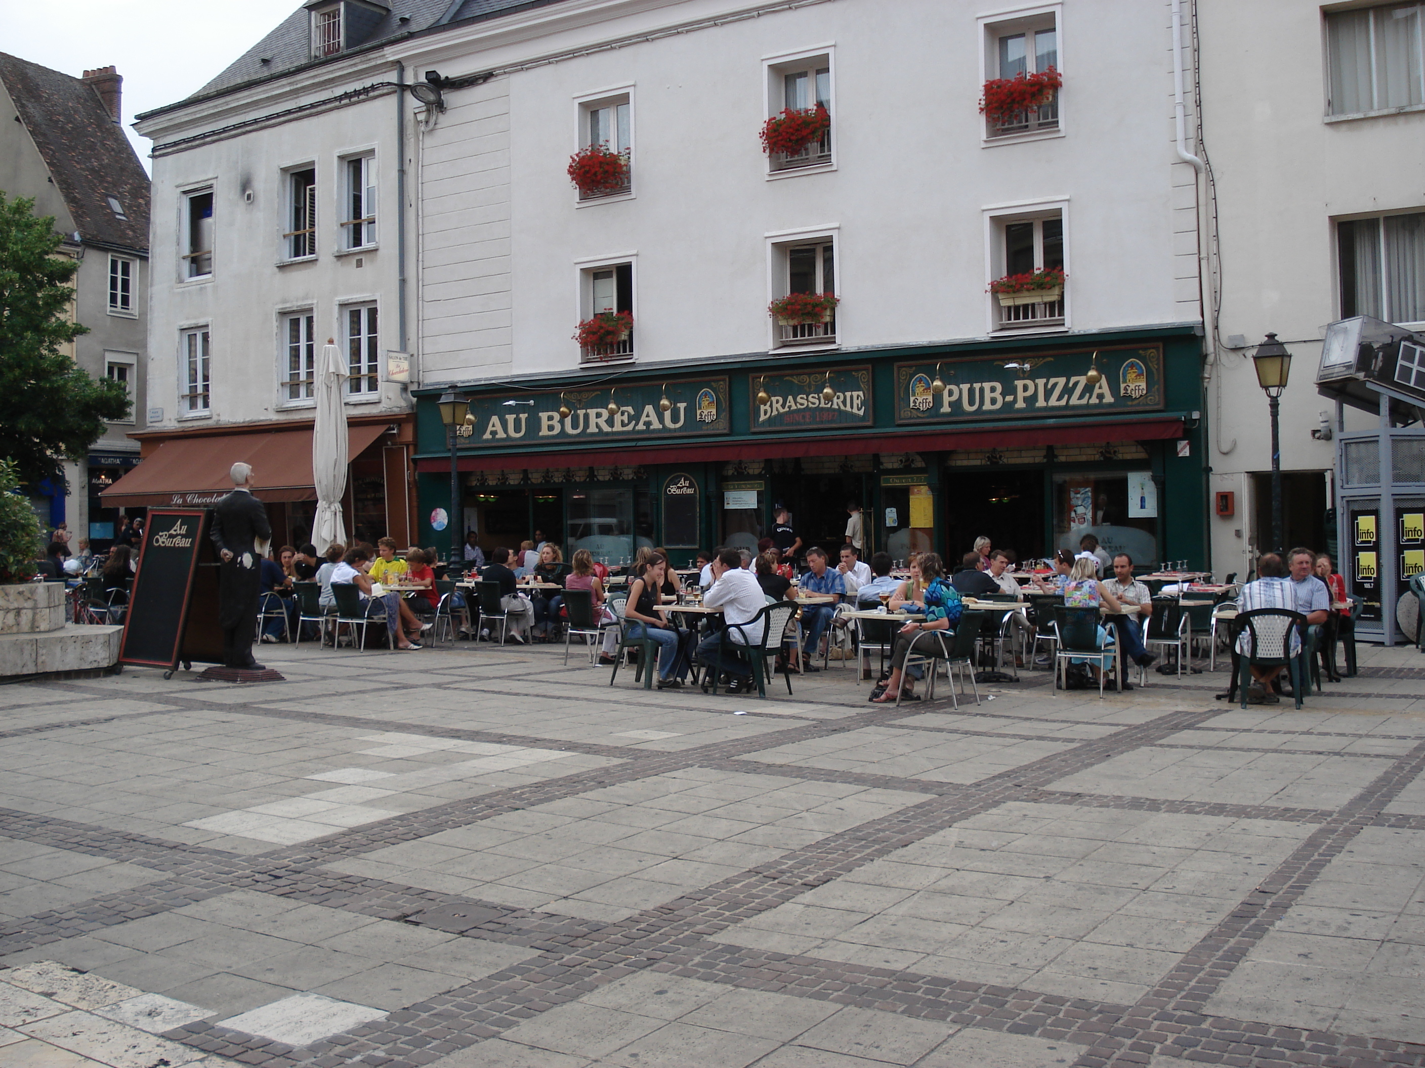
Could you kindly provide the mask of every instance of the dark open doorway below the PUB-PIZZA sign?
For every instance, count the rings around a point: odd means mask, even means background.
[[[958,471],[948,468],[940,488],[945,508],[945,562],[959,567],[975,538],[1023,562],[1045,555],[1045,473],[1042,470]]]

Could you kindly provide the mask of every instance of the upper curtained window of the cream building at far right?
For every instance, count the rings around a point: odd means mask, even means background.
[[[1327,114],[1358,115],[1425,104],[1425,3],[1327,13]]]

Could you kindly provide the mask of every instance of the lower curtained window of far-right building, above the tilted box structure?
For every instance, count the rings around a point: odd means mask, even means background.
[[[1341,318],[1425,322],[1425,212],[1337,224]]]

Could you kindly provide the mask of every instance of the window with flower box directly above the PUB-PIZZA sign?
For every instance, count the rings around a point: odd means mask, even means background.
[[[1063,209],[992,219],[990,299],[1000,330],[1064,322]]]

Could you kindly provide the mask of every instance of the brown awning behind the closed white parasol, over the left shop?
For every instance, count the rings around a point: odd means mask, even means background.
[[[348,429],[348,456],[355,460],[386,424]],[[265,501],[312,501],[312,427],[265,434],[214,434],[171,439],[138,467],[104,490],[108,508],[212,504],[232,488],[228,470],[252,464],[252,491]]]

